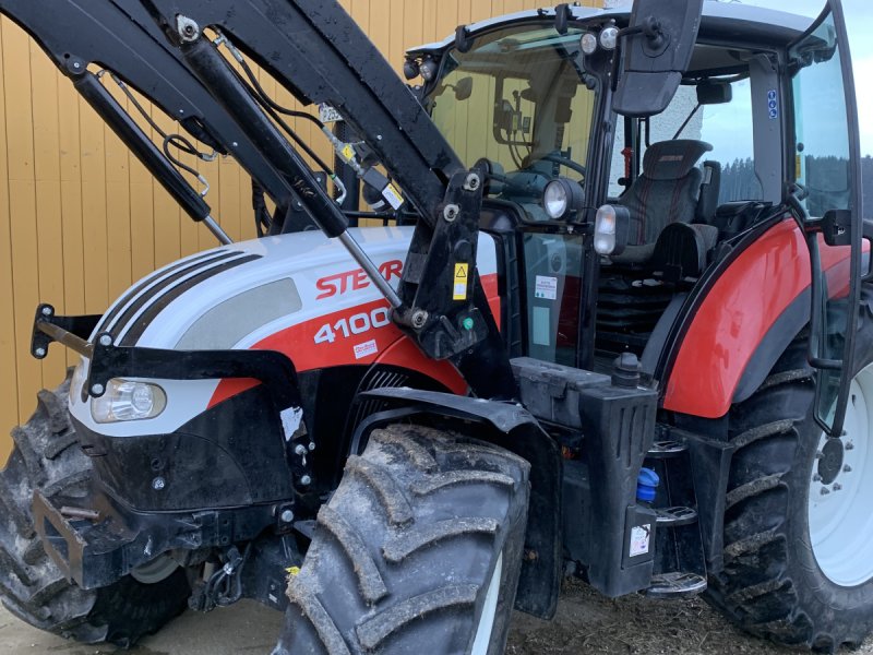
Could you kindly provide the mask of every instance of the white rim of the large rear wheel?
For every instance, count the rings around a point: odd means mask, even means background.
[[[809,519],[813,555],[839,586],[873,579],[873,365],[851,382],[840,439],[822,434],[811,473]]]

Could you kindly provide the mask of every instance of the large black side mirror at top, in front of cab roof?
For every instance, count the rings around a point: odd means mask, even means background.
[[[645,118],[663,111],[691,63],[703,0],[634,0],[623,29],[624,64],[612,98],[615,112]]]

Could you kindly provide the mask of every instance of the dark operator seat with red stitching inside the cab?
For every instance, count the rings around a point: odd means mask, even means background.
[[[647,263],[665,227],[701,219],[698,204],[704,174],[696,164],[711,150],[705,141],[693,139],[661,141],[648,146],[643,157],[643,172],[618,201],[631,213],[630,239],[624,252],[610,257],[612,263]],[[709,236],[705,235],[706,241],[710,240]]]

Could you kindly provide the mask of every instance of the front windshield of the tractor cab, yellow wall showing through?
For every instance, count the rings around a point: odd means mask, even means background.
[[[542,25],[480,36],[469,51],[446,53],[426,98],[461,159],[488,160],[488,193],[523,204],[536,221],[547,219],[540,199],[550,180],[584,187],[597,81],[582,68],[581,36]]]

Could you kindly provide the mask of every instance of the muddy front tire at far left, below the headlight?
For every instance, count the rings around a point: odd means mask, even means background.
[[[15,449],[0,472],[0,598],[20,619],[84,643],[122,646],[158,630],[187,606],[188,577],[178,569],[156,584],[125,576],[84,591],[67,582],[33,526],[35,489],[46,497],[83,496],[92,477],[67,412],[67,381],[40,391],[26,425],[12,430]]]

